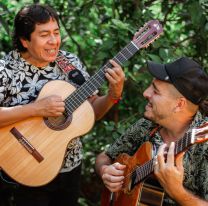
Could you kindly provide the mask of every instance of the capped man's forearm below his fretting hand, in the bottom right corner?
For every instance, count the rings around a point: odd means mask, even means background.
[[[186,190],[184,187],[181,189],[177,189],[177,193],[174,199],[181,206],[207,206],[208,205],[208,201],[202,200],[200,197],[192,194],[190,191]]]

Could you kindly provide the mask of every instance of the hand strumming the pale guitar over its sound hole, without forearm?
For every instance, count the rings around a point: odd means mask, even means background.
[[[33,103],[35,115],[42,117],[57,117],[63,114],[65,103],[60,96],[52,95]]]

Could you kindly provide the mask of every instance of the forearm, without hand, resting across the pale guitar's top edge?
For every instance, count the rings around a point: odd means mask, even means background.
[[[33,104],[0,108],[0,127],[13,124],[33,116]]]

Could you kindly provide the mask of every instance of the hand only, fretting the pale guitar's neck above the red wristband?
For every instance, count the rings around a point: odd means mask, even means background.
[[[122,95],[125,74],[119,64],[114,60],[110,60],[113,67],[106,69],[105,76],[109,81],[109,92],[108,95],[112,99],[119,99]]]

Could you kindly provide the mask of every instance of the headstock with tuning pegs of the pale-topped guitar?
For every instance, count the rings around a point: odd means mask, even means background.
[[[163,32],[158,20],[150,20],[135,33],[133,42],[138,48],[146,48]]]

